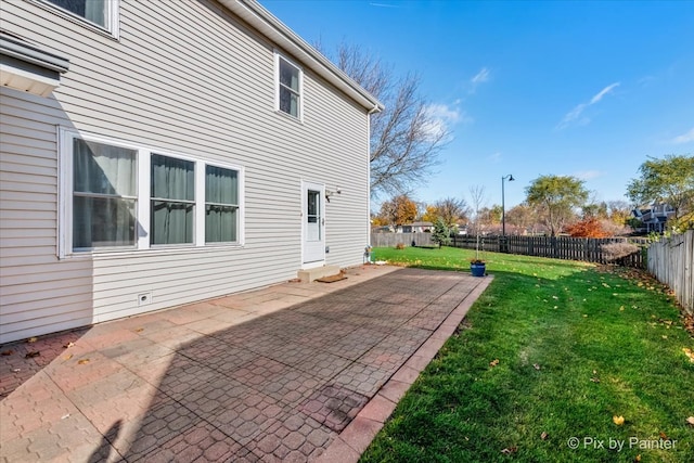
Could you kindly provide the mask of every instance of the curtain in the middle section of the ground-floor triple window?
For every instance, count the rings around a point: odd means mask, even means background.
[[[152,155],[152,244],[193,243],[195,165]]]

